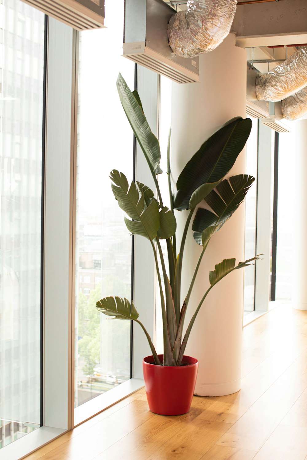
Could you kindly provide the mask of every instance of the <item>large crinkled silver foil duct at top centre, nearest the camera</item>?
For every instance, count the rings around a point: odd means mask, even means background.
[[[214,50],[229,34],[236,8],[237,0],[189,0],[168,23],[173,52],[195,57]]]

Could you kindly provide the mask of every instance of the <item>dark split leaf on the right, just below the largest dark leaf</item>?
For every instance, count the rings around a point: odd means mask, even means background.
[[[208,209],[197,209],[192,224],[193,236],[197,244],[202,244],[202,233],[206,228],[216,225],[216,231],[220,230],[222,225],[240,206],[254,180],[254,177],[247,174],[232,176],[217,185],[216,190],[219,195],[212,190],[205,197],[205,201],[207,201],[215,214]]]

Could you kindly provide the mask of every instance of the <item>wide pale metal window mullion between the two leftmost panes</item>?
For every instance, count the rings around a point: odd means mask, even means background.
[[[44,426],[71,424],[71,108],[74,31],[49,18],[44,209]]]

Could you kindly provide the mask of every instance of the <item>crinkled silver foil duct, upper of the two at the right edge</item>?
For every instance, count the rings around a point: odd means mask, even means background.
[[[256,96],[261,101],[281,101],[307,86],[307,46],[283,63],[256,78]]]

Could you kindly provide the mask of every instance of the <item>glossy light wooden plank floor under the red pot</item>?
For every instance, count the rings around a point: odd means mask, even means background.
[[[243,336],[238,393],[168,417],[140,390],[27,460],[307,460],[307,312],[281,305]]]

